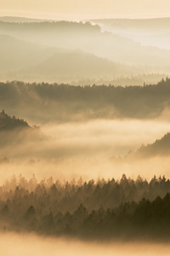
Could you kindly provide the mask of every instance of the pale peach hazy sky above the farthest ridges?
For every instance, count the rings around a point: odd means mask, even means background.
[[[169,16],[169,0],[0,0],[0,15],[81,20]]]

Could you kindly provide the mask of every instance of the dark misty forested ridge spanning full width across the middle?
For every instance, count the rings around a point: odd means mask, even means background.
[[[145,86],[0,83],[0,108],[36,122],[155,118],[170,107],[170,79]],[[8,101],[6,100],[8,99]],[[43,113],[43,115],[42,115]]]

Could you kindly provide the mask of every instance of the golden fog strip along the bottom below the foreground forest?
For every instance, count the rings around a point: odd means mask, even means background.
[[[7,246],[8,245],[8,246]],[[50,239],[35,235],[6,233],[0,235],[0,253],[4,256],[41,255],[41,256],[155,256],[169,255],[169,245],[155,243],[86,243],[66,239]]]

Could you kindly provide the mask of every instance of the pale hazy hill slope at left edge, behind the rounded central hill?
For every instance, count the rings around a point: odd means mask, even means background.
[[[0,45],[0,73],[36,65],[54,53],[54,49],[8,35],[0,35]]]

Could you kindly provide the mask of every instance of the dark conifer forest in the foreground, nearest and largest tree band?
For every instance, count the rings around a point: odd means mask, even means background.
[[[43,235],[87,239],[170,237],[170,181],[150,182],[123,174],[83,182],[37,183],[33,175],[14,176],[0,187],[0,226],[3,230],[36,231]]]

